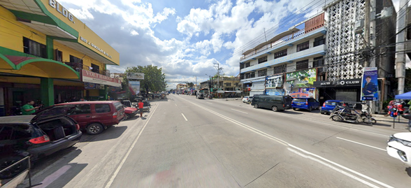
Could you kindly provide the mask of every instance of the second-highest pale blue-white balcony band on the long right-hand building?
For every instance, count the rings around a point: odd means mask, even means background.
[[[326,45],[318,45],[314,48],[308,48],[307,50],[303,50],[303,51],[300,51],[300,52],[295,52],[295,53],[292,53],[291,55],[287,55],[287,56],[284,56],[284,57],[273,59],[271,61],[268,61],[268,62],[265,62],[265,63],[262,63],[262,64],[255,64],[254,66],[249,66],[247,68],[243,68],[243,69],[240,70],[240,73],[246,73],[246,72],[249,72],[249,71],[256,71],[257,69],[260,69],[260,68],[269,68],[273,65],[282,64],[282,63],[285,63],[285,62],[292,63],[297,59],[303,59],[305,57],[310,57],[312,55],[325,55],[325,52],[326,52]]]

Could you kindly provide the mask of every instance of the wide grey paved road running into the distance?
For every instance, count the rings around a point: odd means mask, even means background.
[[[398,129],[183,95],[169,95],[153,107],[144,119],[87,137],[34,182],[42,187],[411,186],[406,166],[384,151]]]

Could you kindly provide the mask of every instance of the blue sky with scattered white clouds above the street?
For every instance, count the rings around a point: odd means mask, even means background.
[[[75,17],[120,52],[120,66],[152,64],[168,88],[202,82],[222,67],[239,73],[246,50],[321,13],[332,0],[59,0]],[[398,10],[398,1],[394,5]]]

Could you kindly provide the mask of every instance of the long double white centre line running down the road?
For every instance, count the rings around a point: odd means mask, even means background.
[[[185,100],[185,99],[182,99],[182,100]],[[187,100],[185,100],[185,101],[187,101]],[[187,101],[187,102],[192,103],[191,101]],[[265,133],[265,132],[263,132],[263,131],[260,131],[260,130],[258,130],[258,129],[255,129],[255,128],[251,127],[251,126],[248,126],[248,125],[243,124],[243,123],[241,123],[241,122],[237,122],[236,120],[233,120],[233,119],[231,119],[231,118],[229,118],[229,117],[226,117],[226,116],[224,116],[224,115],[220,115],[220,114],[218,114],[218,113],[216,113],[216,112],[214,112],[214,111],[212,111],[212,110],[210,110],[210,109],[208,109],[208,108],[205,108],[205,107],[203,107],[203,106],[200,106],[200,105],[198,105],[198,104],[196,104],[196,103],[192,103],[192,104],[195,105],[195,106],[198,106],[199,108],[203,108],[204,110],[206,110],[206,111],[208,111],[208,112],[210,112],[210,113],[212,113],[212,114],[218,115],[219,117],[222,117],[222,118],[224,118],[224,119],[226,119],[226,120],[229,120],[230,122],[233,122],[234,124],[238,124],[238,125],[240,125],[240,126],[243,126],[244,128],[249,129],[250,131],[253,131],[254,133],[258,133],[258,134],[261,135],[261,136],[265,136],[266,138],[270,138],[271,140],[275,140],[275,141],[277,141],[278,143],[281,143],[282,145],[286,145],[286,146],[288,145],[289,147],[293,147],[294,149],[299,150],[299,151],[301,151],[301,152],[304,152],[305,154],[310,154],[310,155],[312,155],[313,157],[317,157],[317,160],[320,159],[320,160],[323,161],[323,163],[324,163],[324,161],[326,161],[327,163],[329,163],[328,166],[331,166],[330,164],[332,164],[332,165],[334,165],[334,166],[338,166],[339,168],[343,168],[345,171],[349,171],[349,172],[351,172],[351,173],[354,173],[354,174],[356,174],[356,175],[361,176],[362,178],[365,178],[365,179],[370,180],[370,181],[372,181],[372,182],[375,182],[375,183],[377,183],[377,184],[379,184],[379,185],[382,185],[383,187],[394,188],[394,187],[391,187],[390,185],[384,184],[383,182],[380,182],[380,181],[378,181],[378,180],[375,180],[375,179],[373,179],[373,178],[370,178],[370,177],[368,177],[367,175],[363,175],[362,173],[359,173],[359,172],[357,172],[357,171],[354,171],[354,170],[352,170],[352,169],[350,169],[350,168],[347,168],[347,167],[345,167],[345,166],[343,166],[343,165],[337,164],[336,162],[330,161],[329,159],[325,159],[324,157],[320,157],[320,156],[317,155],[317,154],[313,154],[313,153],[311,153],[311,152],[308,152],[308,151],[306,151],[306,150],[301,149],[300,147],[296,147],[296,146],[294,146],[294,145],[291,145],[291,144],[285,142],[284,140],[281,140],[280,138],[276,138],[276,137],[274,137],[274,136],[269,135],[268,133]],[[314,159],[314,158],[313,158],[313,159]],[[323,163],[322,163],[322,164],[323,164]],[[334,167],[334,168],[332,168],[332,169],[338,169],[338,168]],[[344,174],[347,175],[347,174],[349,174],[349,173],[344,173]],[[349,176],[349,177],[351,178],[351,176]],[[354,180],[361,180],[361,179],[357,177],[357,178],[354,178]],[[360,181],[360,182],[363,182],[363,183],[364,183],[364,181]],[[368,184],[366,184],[366,185],[368,185]],[[375,185],[374,185],[374,187],[375,187]]]

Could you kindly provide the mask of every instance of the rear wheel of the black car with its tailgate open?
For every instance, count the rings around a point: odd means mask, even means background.
[[[0,160],[0,169],[4,169],[12,164],[15,164],[17,161],[20,161],[21,159],[23,159],[23,157],[20,156],[5,157]],[[8,168],[8,170],[0,173],[0,179],[4,180],[8,178],[13,178],[22,171],[24,171],[24,169],[26,168],[28,168],[27,160],[24,160],[20,162],[20,164],[16,164],[15,166]]]

